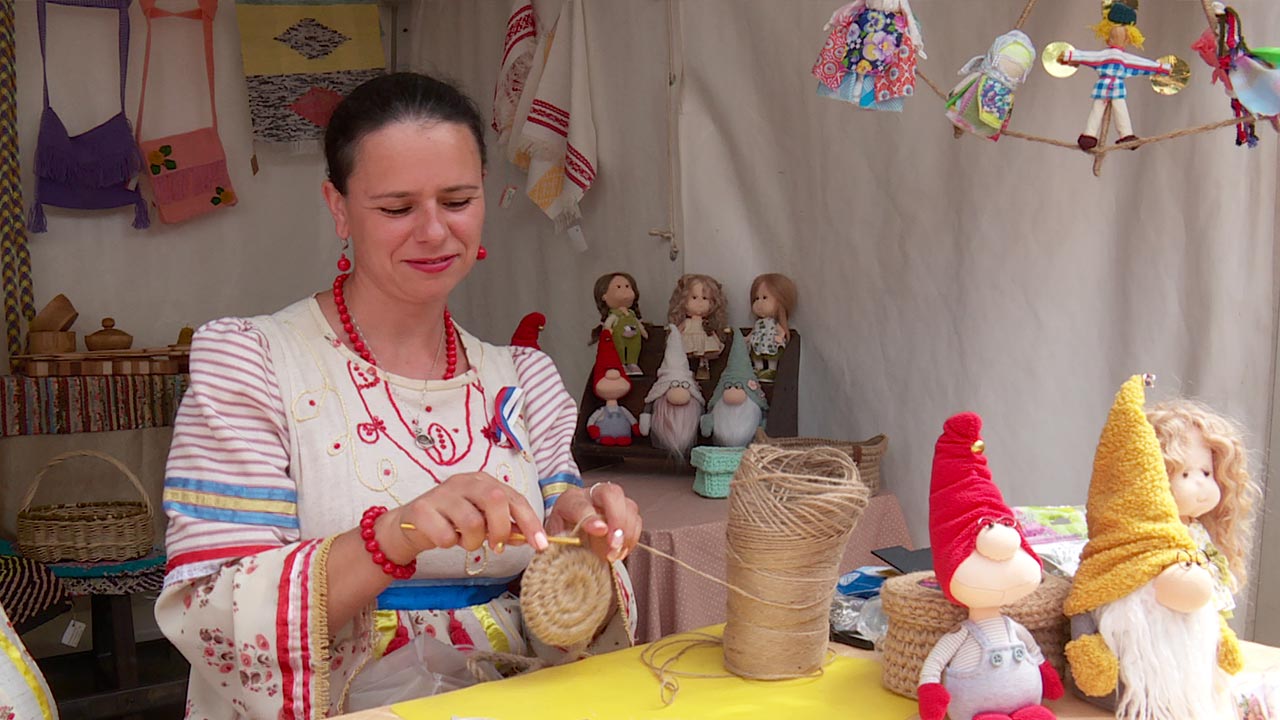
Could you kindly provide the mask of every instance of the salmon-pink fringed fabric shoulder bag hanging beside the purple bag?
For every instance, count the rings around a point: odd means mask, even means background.
[[[142,150],[142,176],[151,181],[152,202],[164,223],[180,223],[220,208],[236,205],[236,191],[227,172],[227,154],[218,137],[218,104],[214,96],[214,15],[218,0],[200,0],[195,10],[173,13],[156,8],[155,0],[141,0],[147,19],[147,50],[142,60],[142,96],[138,99],[137,136]],[[155,18],[200,20],[205,31],[205,74],[209,77],[210,127],[142,140],[142,109],[147,97],[147,70],[151,69],[151,20]]]

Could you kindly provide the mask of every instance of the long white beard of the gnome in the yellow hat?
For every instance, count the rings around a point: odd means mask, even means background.
[[[1212,602],[1194,612],[1170,610],[1156,602],[1152,583],[1094,612],[1098,633],[1120,661],[1116,717],[1222,717],[1215,691],[1217,610]]]

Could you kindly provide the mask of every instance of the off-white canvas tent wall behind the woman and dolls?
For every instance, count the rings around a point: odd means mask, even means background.
[[[1093,178],[1078,152],[952,140],[940,101],[923,86],[900,115],[815,97],[808,72],[838,0],[582,1],[600,142],[600,178],[584,204],[590,250],[572,252],[526,200],[499,209],[503,187],[521,178],[495,159],[486,181],[490,259],[454,301],[470,329],[504,341],[524,313],[543,310],[550,318],[544,347],[576,392],[590,365],[585,341],[598,274],[636,274],[644,314],[657,320],[678,274],[708,272],[730,288],[732,319],[745,323],[751,277],[787,273],[801,287],[801,432],[888,433],[884,479],[918,544],[928,542],[932,443],[948,414],[984,415],[996,478],[1011,503],[1083,502],[1111,396],[1135,372],[1160,375],[1153,398],[1187,392],[1240,418],[1266,479],[1280,147],[1268,128],[1252,151],[1219,131],[1114,154]],[[547,19],[558,4],[535,5]],[[1252,42],[1280,44],[1267,37],[1280,27],[1280,8],[1261,0],[1236,6]],[[924,72],[950,86],[954,70],[986,51],[1020,9],[1018,0],[916,0],[929,53]],[[40,60],[33,3],[22,0],[18,10],[29,168]],[[508,10],[508,0],[417,0],[401,14],[402,56],[415,69],[456,78],[488,109]],[[114,92],[102,88],[114,64],[87,59],[114,58],[115,40],[109,19],[93,26],[70,17],[74,10],[56,13],[50,15],[65,19],[58,33],[67,35],[64,54],[51,59],[51,90],[76,132],[113,111]],[[1093,0],[1043,3],[1025,29],[1041,45],[1084,47],[1094,42],[1087,28],[1094,18]],[[136,9],[134,20],[141,33]],[[1226,117],[1225,96],[1188,47],[1203,23],[1198,3],[1144,4],[1147,54],[1176,53],[1196,77],[1176,97],[1135,81],[1130,106],[1139,133]],[[170,41],[180,49],[195,37]],[[133,50],[131,115],[141,42]],[[124,213],[54,211],[50,232],[32,238],[37,302],[68,292],[83,313],[76,329],[92,332],[97,318],[114,315],[140,345],[160,345],[183,323],[270,311],[328,286],[337,242],[317,192],[321,161],[257,149],[262,169],[250,172],[229,1],[216,23],[216,54],[223,140],[241,205],[145,233],[129,228]],[[154,70],[157,87],[200,81],[198,64]],[[1037,70],[1019,92],[1015,126],[1074,138],[1091,76],[1053,81]],[[174,97],[156,99],[165,110],[148,113],[148,128],[152,118],[155,132],[201,122],[198,102]],[[669,114],[672,97],[677,111]],[[70,99],[92,102],[72,110]],[[671,227],[682,249],[676,261],[648,234]],[[15,482],[24,484],[52,447],[116,447],[159,487],[163,433],[4,441],[5,521]],[[1276,525],[1265,548],[1275,548]],[[1256,588],[1274,605],[1280,566],[1265,550],[1258,555],[1266,561]],[[1258,618],[1257,637],[1280,642],[1275,623]]]

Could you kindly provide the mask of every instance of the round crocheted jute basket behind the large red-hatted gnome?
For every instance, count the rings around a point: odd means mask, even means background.
[[[1036,592],[1018,605],[1001,609],[1030,630],[1044,659],[1060,674],[1066,670],[1064,648],[1070,639],[1069,623],[1062,615],[1070,589],[1071,583],[1062,578],[1044,575]],[[942,594],[932,571],[890,578],[881,588],[881,602],[888,616],[888,634],[877,648],[883,653],[881,683],[914,698],[924,659],[938,638],[955,630],[968,614]]]

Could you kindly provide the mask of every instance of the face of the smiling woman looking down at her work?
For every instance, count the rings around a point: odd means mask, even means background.
[[[457,123],[404,120],[361,138],[347,193],[329,182],[324,191],[366,287],[401,301],[447,297],[476,260],[483,176],[475,137]]]

